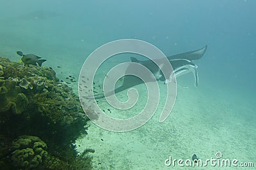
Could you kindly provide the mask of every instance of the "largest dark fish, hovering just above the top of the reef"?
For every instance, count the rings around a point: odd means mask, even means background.
[[[42,66],[42,63],[45,62],[45,60],[39,60],[41,59],[41,57],[38,57],[32,53],[29,53],[29,54],[26,54],[24,55],[22,52],[18,51],[16,52],[18,55],[22,56],[21,60],[22,62],[24,63],[24,66],[28,65],[29,67],[29,64],[32,64],[34,66],[37,66],[36,63],[38,64],[38,66]]]

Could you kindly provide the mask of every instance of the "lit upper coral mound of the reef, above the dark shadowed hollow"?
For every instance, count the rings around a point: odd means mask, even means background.
[[[4,72],[0,78],[0,112],[23,112],[28,118],[36,115],[44,117],[47,124],[61,126],[86,124],[88,118],[78,96],[56,78],[51,67],[26,67],[3,57],[0,62]]]

